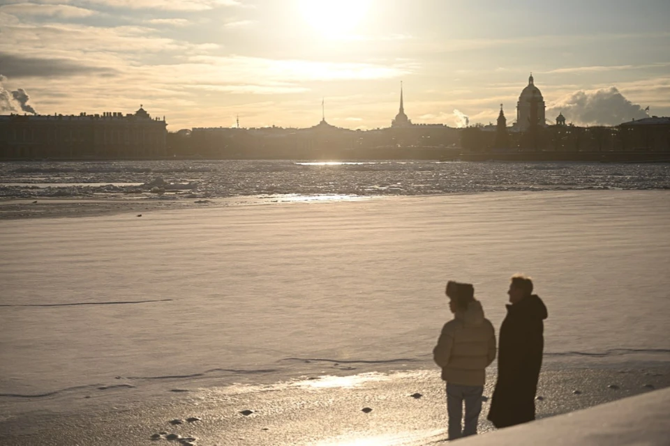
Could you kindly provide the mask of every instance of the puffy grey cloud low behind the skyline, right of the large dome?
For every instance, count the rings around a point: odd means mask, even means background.
[[[618,125],[648,115],[641,105],[633,104],[616,86],[596,91],[575,91],[551,104],[546,116],[563,113],[575,125]]]

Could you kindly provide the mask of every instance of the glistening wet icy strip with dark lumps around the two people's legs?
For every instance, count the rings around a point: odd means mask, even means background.
[[[491,396],[495,374],[484,394]],[[169,387],[169,386],[168,386]],[[544,371],[537,417],[588,408],[650,390],[670,387],[670,366]],[[113,392],[113,390],[110,390]],[[195,445],[426,445],[446,438],[444,384],[438,371],[302,377],[272,385],[230,385],[171,392],[163,403],[105,403],[84,397],[69,412],[34,410],[19,416],[3,411],[6,446],[156,445],[170,434],[195,438]],[[420,394],[420,396],[419,396]],[[111,401],[111,400],[110,400]],[[370,408],[366,412],[363,409]],[[479,418],[479,433],[493,431]],[[245,411],[251,413],[245,415]],[[191,420],[188,418],[198,418]],[[170,424],[181,420],[181,424]],[[152,436],[158,434],[158,442]]]

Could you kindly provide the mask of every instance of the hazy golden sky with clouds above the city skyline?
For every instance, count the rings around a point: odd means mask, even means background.
[[[0,0],[0,108],[168,130],[670,116],[670,1]],[[645,112],[649,107],[648,112]],[[467,119],[466,119],[467,118]]]

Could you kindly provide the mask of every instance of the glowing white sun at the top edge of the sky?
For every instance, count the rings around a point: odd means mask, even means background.
[[[352,37],[365,17],[370,0],[299,0],[305,20],[324,36]]]

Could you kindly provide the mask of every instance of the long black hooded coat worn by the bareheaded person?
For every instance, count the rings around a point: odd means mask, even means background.
[[[546,316],[544,302],[537,295],[507,305],[507,316],[500,325],[498,381],[488,417],[498,428],[535,420]]]

